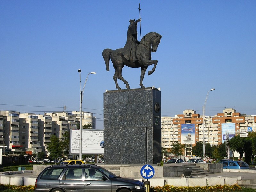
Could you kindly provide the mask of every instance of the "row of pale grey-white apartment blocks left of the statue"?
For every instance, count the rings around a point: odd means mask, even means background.
[[[95,129],[93,113],[82,112],[82,126],[90,124]],[[64,140],[64,133],[79,129],[80,112],[52,112],[44,115],[0,111],[0,148],[4,153],[30,154],[44,152],[50,155],[47,144],[52,135]]]

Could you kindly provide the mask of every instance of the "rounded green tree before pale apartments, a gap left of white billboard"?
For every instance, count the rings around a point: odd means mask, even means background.
[[[48,150],[52,159],[56,160],[62,154],[62,147],[60,139],[56,135],[52,135],[48,144]]]

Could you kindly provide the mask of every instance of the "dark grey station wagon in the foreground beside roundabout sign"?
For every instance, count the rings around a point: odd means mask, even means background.
[[[58,164],[45,168],[36,178],[34,192],[133,191],[145,192],[144,183],[121,178],[95,164]]]

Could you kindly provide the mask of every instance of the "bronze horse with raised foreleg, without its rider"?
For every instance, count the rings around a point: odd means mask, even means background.
[[[109,60],[111,59],[113,66],[115,68],[115,74],[113,79],[116,84],[116,89],[120,90],[121,88],[117,84],[117,78],[126,84],[126,88],[130,89],[128,82],[122,77],[122,69],[126,65],[132,68],[141,68],[140,74],[140,86],[141,88],[145,88],[142,84],[143,78],[145,76],[146,69],[149,65],[154,64],[154,67],[151,71],[148,71],[148,75],[151,75],[157,65],[157,60],[151,60],[151,51],[156,52],[157,47],[160,43],[161,35],[156,32],[150,32],[142,37],[141,41],[137,44],[137,58],[138,61],[133,62],[132,57],[131,60],[127,60],[123,55],[123,48],[111,50],[104,49],[102,52],[102,56],[105,60],[106,70],[109,71]],[[143,43],[142,43],[143,42]]]

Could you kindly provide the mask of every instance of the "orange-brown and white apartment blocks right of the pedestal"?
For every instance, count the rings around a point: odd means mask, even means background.
[[[226,127],[227,125],[234,125],[235,127],[230,132],[231,135],[255,132],[256,118],[255,115],[240,114],[232,108],[227,108],[223,110],[223,113],[218,113],[214,117],[204,116],[203,118],[191,109],[185,110],[183,114],[175,115],[175,117],[162,117],[162,147],[168,149],[172,147],[174,142],[179,142],[185,144],[184,156],[191,156],[193,155],[192,147],[199,141],[205,140],[211,146],[220,145],[225,139],[224,135],[228,132],[223,126]],[[189,133],[189,139],[187,139],[188,135],[186,134],[188,134],[189,129],[192,137]]]

